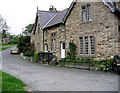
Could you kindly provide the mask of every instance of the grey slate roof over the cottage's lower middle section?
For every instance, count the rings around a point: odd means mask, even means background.
[[[67,9],[60,12],[50,12],[38,10],[38,20],[42,29],[62,23]]]

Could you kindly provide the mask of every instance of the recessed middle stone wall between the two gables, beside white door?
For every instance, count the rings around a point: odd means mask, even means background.
[[[48,51],[52,52],[57,58],[61,57],[60,43],[65,42],[65,31],[61,31],[61,26],[52,27],[47,30],[47,36],[44,31],[44,45],[48,44]],[[51,34],[56,33],[56,47],[55,51],[51,51]]]

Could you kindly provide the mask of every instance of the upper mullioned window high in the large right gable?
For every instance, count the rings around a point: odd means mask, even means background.
[[[91,4],[82,6],[82,21],[91,20]]]

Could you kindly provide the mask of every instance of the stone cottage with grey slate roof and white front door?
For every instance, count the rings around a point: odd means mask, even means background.
[[[35,51],[65,58],[69,42],[77,45],[77,57],[97,59],[120,54],[120,1],[80,2],[68,9],[36,13],[31,43]]]

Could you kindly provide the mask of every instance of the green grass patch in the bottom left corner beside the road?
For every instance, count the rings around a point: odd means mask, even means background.
[[[21,80],[2,71],[0,71],[0,74],[2,74],[0,75],[0,88],[2,85],[2,93],[6,92],[16,93],[18,91],[20,93],[26,93],[24,91],[24,87],[26,86],[26,84],[23,83]]]

